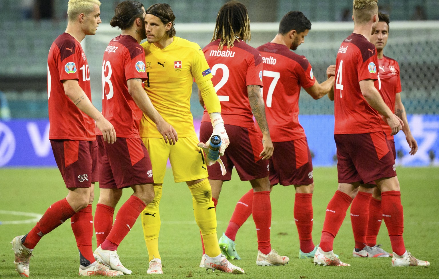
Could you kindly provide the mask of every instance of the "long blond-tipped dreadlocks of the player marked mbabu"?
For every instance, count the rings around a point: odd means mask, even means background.
[[[219,39],[218,49],[223,49],[224,45],[230,49],[236,38],[243,41],[252,39],[250,20],[244,4],[230,1],[219,9],[211,42]]]

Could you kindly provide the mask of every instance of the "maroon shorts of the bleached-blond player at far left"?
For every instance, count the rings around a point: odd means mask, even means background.
[[[88,188],[93,181],[95,141],[50,140],[56,164],[67,188]]]

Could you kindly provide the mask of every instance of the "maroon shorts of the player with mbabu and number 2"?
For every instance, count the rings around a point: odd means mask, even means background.
[[[259,154],[263,150],[262,134],[255,128],[245,128],[225,124],[230,145],[227,147],[221,160],[227,173],[223,176],[218,163],[207,166],[209,179],[228,181],[232,177],[232,169],[236,171],[242,181],[268,177],[268,160],[262,160]],[[212,124],[202,122],[200,126],[200,141],[207,142],[212,135]]]

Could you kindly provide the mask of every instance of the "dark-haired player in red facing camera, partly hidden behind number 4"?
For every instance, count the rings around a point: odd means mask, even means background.
[[[413,138],[410,127],[407,121],[404,105],[401,101],[401,80],[399,78],[399,65],[396,60],[386,57],[383,54],[383,49],[387,44],[389,35],[389,15],[378,14],[378,25],[372,34],[370,42],[376,46],[378,55],[378,72],[380,76],[381,88],[380,93],[387,106],[403,120],[403,132],[406,135],[407,143],[411,150],[410,155],[417,152],[417,142]],[[387,140],[392,149],[393,158],[396,159],[395,141],[393,139],[392,131],[381,119],[381,127],[383,128]],[[360,241],[356,241],[355,249],[353,251],[354,257],[389,257],[391,254],[384,251],[377,245],[377,235],[381,226],[382,212],[381,212],[381,192],[376,185],[361,185],[358,187],[359,195],[352,201],[351,205],[351,221],[353,231],[360,236]],[[369,216],[363,212],[363,208],[369,203]],[[368,218],[368,220],[367,220]],[[366,243],[363,243],[364,226],[367,225]],[[365,245],[367,244],[367,245]],[[363,247],[363,248],[362,248]]]

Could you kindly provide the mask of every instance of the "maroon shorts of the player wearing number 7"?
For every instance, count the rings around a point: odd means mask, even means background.
[[[309,185],[313,183],[313,162],[306,138],[273,142],[270,184]]]

